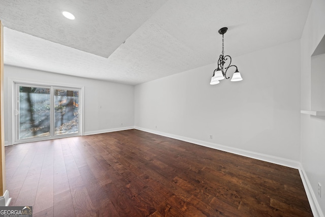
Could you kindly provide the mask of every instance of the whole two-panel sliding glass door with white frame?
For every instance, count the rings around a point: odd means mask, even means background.
[[[15,142],[80,135],[80,89],[15,84]]]

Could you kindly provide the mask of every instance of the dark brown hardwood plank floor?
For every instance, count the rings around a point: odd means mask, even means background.
[[[138,130],[6,147],[37,216],[312,216],[298,170]]]

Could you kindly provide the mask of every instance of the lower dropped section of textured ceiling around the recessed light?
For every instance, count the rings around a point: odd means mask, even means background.
[[[8,28],[107,58],[166,1],[0,2],[1,18]],[[64,18],[62,11],[76,19]]]

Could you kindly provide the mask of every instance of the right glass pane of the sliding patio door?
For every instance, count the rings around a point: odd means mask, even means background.
[[[54,136],[79,133],[79,91],[54,89]]]

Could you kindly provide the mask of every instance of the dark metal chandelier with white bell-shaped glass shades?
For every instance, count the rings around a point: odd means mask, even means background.
[[[231,81],[241,81],[242,76],[240,75],[237,66],[231,65],[232,64],[232,57],[230,55],[224,55],[223,51],[223,35],[227,32],[228,28],[223,27],[219,29],[219,34],[222,35],[222,54],[219,56],[218,59],[218,67],[214,70],[213,76],[211,78],[210,84],[218,84],[220,83],[220,80],[222,79],[229,79],[230,77],[227,77],[227,72],[230,68],[236,69]]]

